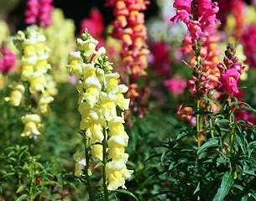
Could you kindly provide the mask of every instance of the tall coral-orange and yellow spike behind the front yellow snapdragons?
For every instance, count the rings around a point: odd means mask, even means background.
[[[131,99],[131,106],[138,102],[138,94],[133,93],[138,86],[137,80],[141,76],[147,75],[145,69],[148,67],[146,55],[149,49],[145,40],[147,39],[147,29],[144,25],[144,11],[149,1],[144,0],[107,0],[105,6],[114,7],[113,14],[116,19],[112,22],[112,37],[119,39],[123,45],[121,50],[120,72],[124,72],[124,76],[128,76],[129,86],[128,97]],[[125,80],[125,79],[123,79]],[[132,84],[135,84],[132,86]],[[135,92],[134,91],[134,92]],[[136,105],[139,105],[139,103]],[[137,110],[137,109],[135,109]]]

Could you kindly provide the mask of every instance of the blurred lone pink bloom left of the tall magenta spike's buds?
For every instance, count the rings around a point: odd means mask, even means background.
[[[180,77],[171,78],[169,80],[165,80],[164,85],[173,95],[182,95],[186,87],[186,79]]]

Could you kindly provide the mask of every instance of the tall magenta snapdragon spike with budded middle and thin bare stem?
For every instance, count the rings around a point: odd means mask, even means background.
[[[205,58],[201,58],[201,47],[205,43],[206,35],[211,33],[212,26],[220,23],[216,18],[219,8],[217,3],[212,3],[211,0],[175,0],[174,7],[177,8],[177,11],[171,21],[175,23],[179,20],[183,21],[187,26],[187,33],[190,34],[190,37],[185,39],[187,39],[188,44],[191,43],[189,47],[193,50],[196,63],[191,66],[193,72],[191,80],[188,80],[188,88],[191,95],[196,97],[196,108],[199,111],[201,98],[208,94],[211,86],[210,80],[208,80]],[[201,147],[199,121],[200,116],[196,115],[197,146]]]

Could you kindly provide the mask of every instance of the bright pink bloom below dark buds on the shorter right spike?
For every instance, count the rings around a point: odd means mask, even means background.
[[[225,74],[222,74],[219,78],[219,81],[224,85],[223,90],[227,91],[227,95],[233,95],[233,92],[239,93],[238,90],[238,79],[239,74],[235,69],[229,69]]]

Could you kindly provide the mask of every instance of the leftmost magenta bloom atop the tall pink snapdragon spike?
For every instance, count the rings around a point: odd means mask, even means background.
[[[175,0],[174,8],[177,8],[175,17],[170,20],[177,23],[179,19],[181,21],[187,21],[191,14],[191,0]]]

